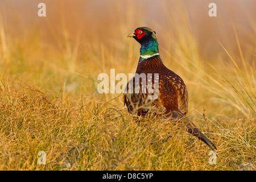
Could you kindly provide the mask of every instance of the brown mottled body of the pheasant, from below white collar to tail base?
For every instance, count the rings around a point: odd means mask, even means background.
[[[129,81],[126,86],[126,92],[124,94],[124,102],[130,113],[133,112],[134,108],[139,107],[137,114],[144,115],[147,113],[148,109],[152,106],[158,107],[161,111],[170,113],[171,111],[180,111],[182,114],[187,114],[188,112],[188,93],[187,88],[183,80],[172,72],[170,69],[164,66],[162,60],[159,56],[152,57],[141,61],[137,67],[137,75]],[[144,77],[141,76],[144,73]],[[151,73],[148,74],[148,73]],[[154,73],[158,73],[154,75]],[[138,78],[139,82],[136,82],[135,78]],[[152,94],[148,93],[147,86],[143,85],[143,82],[152,81],[152,89],[155,92]],[[159,86],[157,89],[157,85]],[[135,93],[135,88],[137,87],[137,93]],[[131,91],[133,88],[133,92]],[[149,100],[148,97],[152,95],[158,95],[154,100]]]

